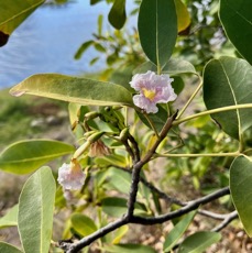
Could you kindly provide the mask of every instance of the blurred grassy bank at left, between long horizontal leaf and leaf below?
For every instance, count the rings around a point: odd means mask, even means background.
[[[9,95],[9,89],[3,89],[0,90],[0,151],[19,140],[62,140],[66,135],[66,102],[29,95],[15,98]]]

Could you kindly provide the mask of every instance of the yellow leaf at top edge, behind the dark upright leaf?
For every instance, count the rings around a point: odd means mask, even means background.
[[[190,25],[190,14],[182,0],[175,0],[177,12],[177,30],[178,33],[185,31]]]

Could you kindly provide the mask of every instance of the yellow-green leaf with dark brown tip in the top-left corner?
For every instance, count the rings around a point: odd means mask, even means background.
[[[10,35],[45,0],[0,0],[0,34]],[[4,45],[0,35],[0,44]]]

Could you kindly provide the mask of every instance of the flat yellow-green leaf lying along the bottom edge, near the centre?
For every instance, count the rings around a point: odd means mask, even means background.
[[[117,244],[117,245],[106,245],[106,252],[110,253],[155,253],[154,249],[142,244]]]

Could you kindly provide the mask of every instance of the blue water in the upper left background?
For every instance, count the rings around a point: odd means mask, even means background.
[[[0,47],[0,88],[37,73],[79,75],[105,67],[102,59],[89,66],[89,61],[99,56],[94,50],[88,50],[79,61],[74,55],[81,43],[92,38],[98,14],[107,20],[110,7],[105,2],[90,7],[89,0],[76,0],[39,8]],[[105,30],[107,26],[105,23]]]

